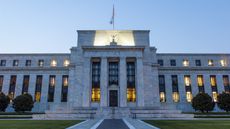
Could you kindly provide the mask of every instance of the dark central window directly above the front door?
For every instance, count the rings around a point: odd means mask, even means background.
[[[109,85],[118,85],[118,62],[109,62]]]

